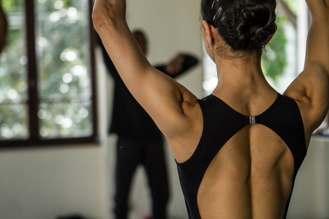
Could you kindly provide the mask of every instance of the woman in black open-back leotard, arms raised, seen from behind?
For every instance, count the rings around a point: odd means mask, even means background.
[[[287,218],[312,133],[329,109],[329,0],[306,3],[313,20],[304,70],[282,95],[261,66],[277,1],[201,0],[218,84],[198,99],[150,65],[125,20],[126,1],[95,1],[94,27],[120,77],[172,148],[190,219]]]

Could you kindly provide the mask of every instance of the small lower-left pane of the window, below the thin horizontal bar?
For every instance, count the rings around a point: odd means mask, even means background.
[[[0,105],[0,140],[27,139],[28,118],[25,104]]]

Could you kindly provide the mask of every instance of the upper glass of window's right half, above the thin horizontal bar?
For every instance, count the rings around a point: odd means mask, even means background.
[[[87,0],[36,1],[41,100],[90,99]]]

